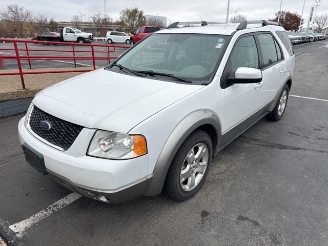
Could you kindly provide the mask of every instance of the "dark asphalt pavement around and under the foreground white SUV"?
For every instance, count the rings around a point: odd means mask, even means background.
[[[212,162],[200,192],[123,204],[80,197],[25,161],[23,115],[0,119],[0,234],[9,245],[327,245],[328,42],[295,46],[292,96]],[[304,98],[309,97],[309,98]]]

